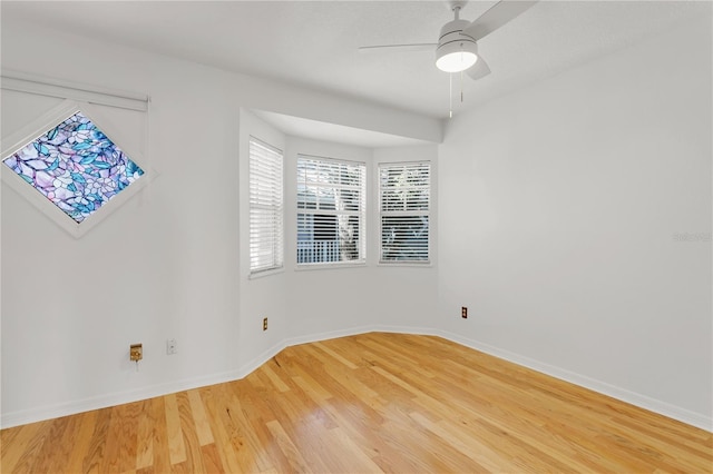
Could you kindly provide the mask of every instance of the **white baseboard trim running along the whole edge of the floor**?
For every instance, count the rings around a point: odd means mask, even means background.
[[[485,354],[492,355],[495,357],[511,362],[517,365],[521,365],[533,371],[540,372],[543,374],[550,375],[555,378],[559,378],[572,384],[589,388],[594,392],[614,397],[622,402],[629,403],[649,412],[657,413],[663,416],[667,416],[673,419],[677,419],[682,423],[705,429],[713,433],[713,418],[694,413],[648,396],[631,392],[626,388],[617,387],[615,385],[607,384],[602,381],[597,381],[585,375],[580,375],[570,371],[566,371],[560,367],[556,367],[537,359],[526,357],[520,354],[516,354],[499,347],[491,346],[480,340],[462,337],[458,334],[453,334],[446,330],[429,328],[429,327],[403,327],[403,326],[387,326],[387,325],[368,325],[356,326],[348,329],[340,329],[319,334],[309,334],[303,336],[296,336],[283,339],[272,347],[267,348],[260,355],[253,357],[248,362],[242,364],[237,371],[223,372],[212,374],[203,377],[195,377],[189,379],[183,379],[178,382],[172,382],[166,384],[152,385],[149,387],[119,392],[105,396],[84,398],[80,401],[68,402],[65,404],[45,406],[33,409],[26,409],[20,412],[13,412],[4,414],[0,417],[0,427],[9,428],[12,426],[25,425],[28,423],[40,422],[43,419],[58,418],[60,416],[74,415],[77,413],[88,412],[91,409],[106,408],[108,406],[121,405],[125,403],[138,402],[146,398],[156,396],[163,396],[176,392],[204,387],[207,385],[221,384],[225,382],[233,382],[250,375],[253,371],[257,369],[265,362],[270,361],[275,355],[280,354],[284,348],[290,346],[296,346],[300,344],[314,343],[319,340],[328,340],[338,337],[354,336],[365,333],[397,333],[397,334],[417,334],[438,336],[453,343],[460,344],[466,347],[470,347],[476,350],[480,350]]]

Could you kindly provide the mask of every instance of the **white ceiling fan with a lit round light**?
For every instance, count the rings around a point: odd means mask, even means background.
[[[500,0],[472,22],[460,19],[460,10],[468,4],[468,0],[447,0],[446,3],[453,11],[455,19],[443,24],[437,43],[363,46],[359,50],[434,49],[438,69],[446,72],[466,71],[471,79],[480,79],[490,73],[490,68],[478,55],[478,41],[537,3],[537,0]]]

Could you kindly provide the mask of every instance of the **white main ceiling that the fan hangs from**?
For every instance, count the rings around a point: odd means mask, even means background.
[[[473,20],[494,1],[471,1]],[[479,42],[492,73],[463,79],[455,112],[626,47],[701,14],[706,2],[540,1]],[[360,53],[368,45],[434,42],[442,1],[2,1],[2,22],[70,29],[221,69],[446,118],[449,77],[433,55]],[[707,10],[710,11],[710,8]],[[710,14],[710,13],[709,13]],[[459,88],[456,78],[453,87]]]

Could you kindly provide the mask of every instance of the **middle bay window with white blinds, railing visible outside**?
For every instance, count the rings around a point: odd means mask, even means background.
[[[367,165],[297,156],[297,264],[362,263]]]

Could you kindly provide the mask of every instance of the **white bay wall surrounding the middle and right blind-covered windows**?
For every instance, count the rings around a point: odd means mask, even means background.
[[[422,330],[434,327],[437,273],[434,266],[378,264],[377,165],[381,161],[429,160],[437,167],[436,146],[365,149],[340,144],[287,138],[286,196],[296,196],[299,154],[362,161],[368,172],[367,263],[356,267],[296,269],[296,207],[286,201],[289,320],[295,340],[320,335],[349,334],[369,328]],[[436,255],[436,250],[433,251]],[[296,270],[295,270],[296,269]],[[295,270],[295,271],[291,271]],[[354,288],[358,294],[354,295]]]

